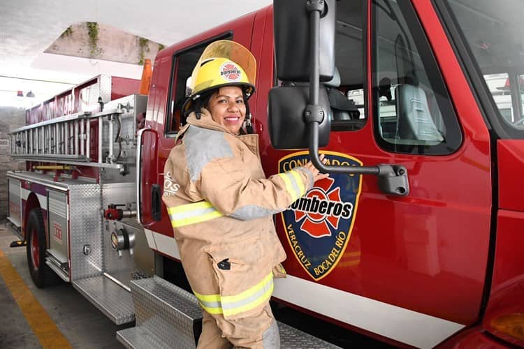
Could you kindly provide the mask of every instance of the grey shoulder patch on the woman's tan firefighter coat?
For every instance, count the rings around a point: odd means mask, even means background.
[[[184,152],[191,181],[196,181],[205,165],[215,158],[230,158],[233,151],[224,133],[194,125],[184,135]]]

